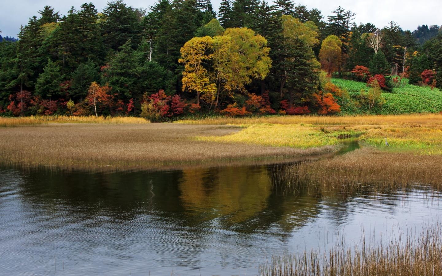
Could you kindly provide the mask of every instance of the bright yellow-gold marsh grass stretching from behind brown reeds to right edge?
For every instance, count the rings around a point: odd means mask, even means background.
[[[212,117],[182,124],[236,125],[241,132],[223,137],[197,137],[222,143],[262,144],[274,147],[319,147],[338,144],[341,138],[360,137],[361,142],[385,147],[387,138],[392,150],[421,150],[424,154],[442,153],[442,115],[401,116],[268,116]]]

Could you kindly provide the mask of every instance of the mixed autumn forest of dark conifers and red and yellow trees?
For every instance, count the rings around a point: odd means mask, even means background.
[[[442,28],[324,17],[290,0],[50,6],[0,42],[0,116],[338,114],[406,85],[442,87]],[[364,83],[358,96],[332,79]],[[441,111],[441,110],[437,110]]]

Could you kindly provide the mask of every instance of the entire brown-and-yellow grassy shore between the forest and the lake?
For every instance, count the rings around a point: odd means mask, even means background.
[[[360,143],[389,158],[442,155],[441,114],[212,117],[176,123],[61,116],[1,118],[0,123],[20,126],[0,128],[2,163],[23,166],[130,170],[253,163],[329,153],[347,136],[359,136]]]

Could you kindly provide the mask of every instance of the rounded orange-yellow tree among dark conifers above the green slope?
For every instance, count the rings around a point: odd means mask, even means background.
[[[341,40],[333,34],[322,41],[319,59],[328,76],[331,76],[342,62],[341,47]]]

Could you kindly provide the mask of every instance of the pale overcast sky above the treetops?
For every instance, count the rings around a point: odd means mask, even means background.
[[[85,2],[92,2],[98,11],[102,11],[107,0],[1,0],[0,30],[2,36],[17,37],[20,25],[26,25],[29,17],[38,15],[45,5],[52,6],[63,15],[71,6],[80,8]],[[148,8],[155,0],[126,0],[134,8]],[[217,10],[221,0],[212,0]],[[304,4],[307,8],[318,8],[325,18],[339,5],[356,13],[356,23],[371,22],[379,28],[389,21],[396,21],[404,30],[415,30],[418,25],[442,24],[441,0],[303,0],[296,4]]]

